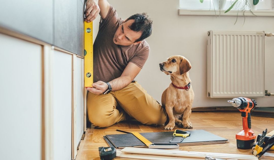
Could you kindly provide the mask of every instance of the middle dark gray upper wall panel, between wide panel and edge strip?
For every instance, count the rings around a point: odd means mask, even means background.
[[[54,45],[77,53],[77,0],[54,0]]]

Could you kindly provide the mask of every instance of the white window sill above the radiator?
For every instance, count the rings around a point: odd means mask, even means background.
[[[238,10],[230,10],[227,13],[224,13],[226,10],[216,10],[216,15],[219,16],[237,16]],[[274,10],[254,10],[252,11],[256,16],[260,17],[273,17]],[[192,16],[215,16],[214,10],[206,9],[179,9],[179,15],[192,15]],[[239,11],[238,16],[255,16],[249,10],[246,12]]]

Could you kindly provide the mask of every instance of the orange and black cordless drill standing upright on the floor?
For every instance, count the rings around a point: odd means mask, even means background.
[[[242,127],[243,129],[236,134],[237,148],[250,149],[255,143],[256,135],[251,129],[250,111],[257,105],[254,99],[239,97],[228,100],[232,106],[237,107],[242,113]]]

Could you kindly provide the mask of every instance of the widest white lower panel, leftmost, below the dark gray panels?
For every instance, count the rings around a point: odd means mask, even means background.
[[[0,159],[41,159],[41,51],[0,34]]]

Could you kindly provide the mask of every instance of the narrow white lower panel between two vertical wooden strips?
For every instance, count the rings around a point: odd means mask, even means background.
[[[72,55],[53,56],[53,159],[72,159]]]

